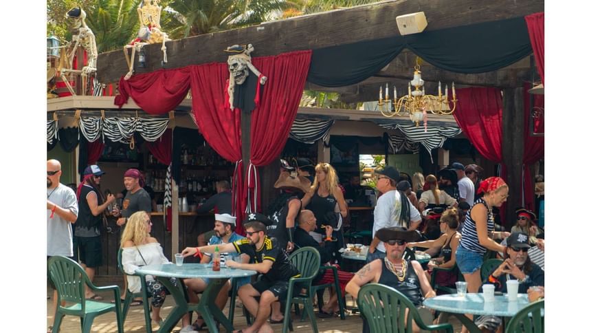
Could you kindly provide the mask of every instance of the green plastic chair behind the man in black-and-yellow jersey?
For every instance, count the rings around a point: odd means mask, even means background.
[[[314,305],[312,303],[314,297],[314,293],[312,292],[312,280],[316,277],[318,270],[320,269],[320,253],[311,246],[304,246],[291,253],[291,255],[289,255],[289,261],[291,261],[293,266],[298,268],[300,277],[292,277],[289,279],[289,288],[287,289],[287,299],[285,301],[285,313],[283,315],[283,333],[287,333],[288,327],[290,331],[293,330],[293,327],[291,327],[291,320],[289,319],[289,316],[291,316],[292,304],[304,305],[304,311],[307,312],[310,317],[313,332],[317,333],[318,327],[316,325]],[[293,296],[295,283],[298,283],[298,288],[304,288],[305,291]]]

